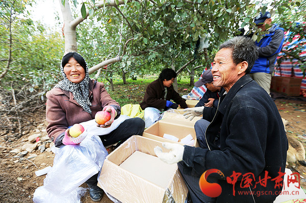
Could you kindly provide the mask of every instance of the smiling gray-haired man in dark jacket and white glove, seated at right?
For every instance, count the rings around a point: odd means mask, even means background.
[[[247,75],[257,57],[246,37],[228,40],[216,53],[214,85],[227,94],[206,129],[208,148],[168,142],[168,153],[155,148],[163,161],[178,162],[193,202],[273,202],[282,191],[288,141],[273,100]],[[208,181],[207,190],[199,180]],[[211,183],[220,193],[212,194]]]

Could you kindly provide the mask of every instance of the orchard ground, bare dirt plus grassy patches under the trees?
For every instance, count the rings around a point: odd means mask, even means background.
[[[109,91],[112,98],[118,101],[122,106],[127,103],[138,104],[142,101],[145,88],[147,84],[157,76],[150,77],[146,80],[129,80],[129,84],[114,81],[113,92]],[[188,80],[179,81],[180,95],[188,94],[191,87],[188,85]],[[187,90],[185,90],[187,89]],[[276,97],[275,104],[281,114],[282,118],[289,122],[286,127],[288,134],[306,146],[306,100],[299,97],[284,97],[282,95],[274,94]],[[36,177],[35,171],[53,165],[54,154],[52,152],[40,152],[40,150],[33,151],[31,154],[36,154],[34,158],[28,159],[28,153],[24,157],[14,158],[16,154],[10,151],[22,147],[27,141],[28,137],[35,133],[46,134],[45,132],[45,111],[36,112],[35,116],[27,118],[36,124],[30,132],[24,133],[19,138],[14,137],[13,132],[0,132],[0,201],[1,202],[33,202],[33,194],[36,188],[43,185],[45,175]],[[292,165],[288,166],[291,170],[297,171],[301,177],[301,186],[306,188],[306,167],[297,165],[295,168]],[[83,184],[81,187],[86,187]],[[93,202],[88,192],[82,197],[82,202]],[[107,195],[104,195],[100,202],[112,202]]]

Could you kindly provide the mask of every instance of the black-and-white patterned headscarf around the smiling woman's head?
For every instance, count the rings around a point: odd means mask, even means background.
[[[71,52],[68,52],[68,53],[71,53]],[[77,52],[72,52],[72,53],[78,54],[83,58],[83,56]],[[63,56],[63,58],[65,57],[65,55]],[[62,90],[71,92],[74,97],[74,100],[77,101],[78,104],[82,106],[86,112],[91,114],[91,109],[90,109],[91,102],[89,101],[89,97],[88,97],[90,78],[89,78],[88,67],[87,67],[86,61],[85,61],[86,67],[83,67],[85,69],[85,78],[80,83],[73,83],[67,79],[67,76],[64,72],[64,68],[62,66],[62,62],[63,62],[63,59],[61,61],[61,73],[64,79],[59,81],[59,83],[55,85],[54,88],[60,88]]]

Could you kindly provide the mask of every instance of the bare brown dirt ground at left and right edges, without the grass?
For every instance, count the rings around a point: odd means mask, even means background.
[[[306,146],[306,101],[302,97],[284,98],[276,97],[275,104],[282,115],[282,118],[289,122],[288,134]],[[10,151],[20,148],[28,137],[35,133],[46,135],[44,112],[37,112],[34,118],[40,121],[33,131],[24,133],[20,138],[8,138],[7,132],[0,132],[0,202],[33,202],[35,189],[43,185],[45,175],[37,177],[35,171],[53,165],[53,152],[40,152],[39,149],[23,157],[16,157],[16,153]],[[36,154],[34,158],[29,158]],[[296,170],[301,176],[301,186],[306,188],[306,167],[297,165],[295,169],[290,165],[291,170]],[[82,187],[86,187],[85,184]],[[81,199],[82,202],[93,202],[88,192]],[[107,195],[104,195],[100,202],[112,202]]]

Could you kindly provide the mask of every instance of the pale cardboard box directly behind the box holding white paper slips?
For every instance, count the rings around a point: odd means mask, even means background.
[[[180,109],[169,109],[164,112],[161,122],[167,122],[170,124],[177,124],[182,126],[194,127],[195,122],[200,120],[202,117],[194,117],[191,121],[190,119],[185,119],[183,115],[186,111]]]

